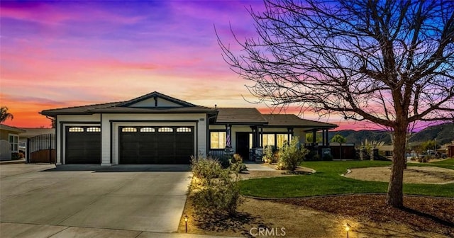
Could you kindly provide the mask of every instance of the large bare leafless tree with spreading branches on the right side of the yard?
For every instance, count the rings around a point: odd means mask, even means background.
[[[236,38],[241,52],[218,43],[258,100],[392,130],[387,204],[402,207],[409,125],[454,112],[453,11],[443,0],[265,0],[250,9],[258,38]]]

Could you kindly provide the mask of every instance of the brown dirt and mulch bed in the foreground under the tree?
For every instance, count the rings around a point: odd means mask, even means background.
[[[299,171],[314,172],[308,168],[299,168]],[[427,174],[425,171],[416,173]],[[282,171],[248,171],[240,176],[252,179],[292,175]],[[389,175],[383,177],[389,178]],[[405,209],[389,208],[384,200],[381,195],[282,200],[243,198],[238,214],[228,217],[196,213],[189,197],[183,214],[189,217],[187,232],[193,234],[264,237],[258,236],[261,228],[268,232],[265,237],[346,237],[344,225],[348,223],[350,238],[454,237],[454,199],[406,197]],[[178,230],[181,233],[185,232],[184,215]]]

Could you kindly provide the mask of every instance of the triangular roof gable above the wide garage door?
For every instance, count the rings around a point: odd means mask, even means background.
[[[119,103],[117,106],[131,108],[181,108],[194,107],[195,105],[154,91],[153,93]]]

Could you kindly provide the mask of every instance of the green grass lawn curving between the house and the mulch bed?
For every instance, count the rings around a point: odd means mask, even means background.
[[[423,164],[448,167],[450,162]],[[349,168],[388,166],[391,162],[303,162],[301,166],[315,169],[316,173],[267,179],[250,179],[240,182],[241,193],[262,198],[294,198],[345,193],[386,193],[387,182],[360,181],[341,176]],[[452,168],[452,167],[451,167]],[[404,184],[405,194],[454,197],[454,183],[444,185]]]

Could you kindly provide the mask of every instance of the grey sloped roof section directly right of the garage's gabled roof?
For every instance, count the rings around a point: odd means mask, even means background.
[[[216,123],[229,124],[267,124],[267,120],[263,118],[256,108],[216,108],[218,110],[218,118]]]

